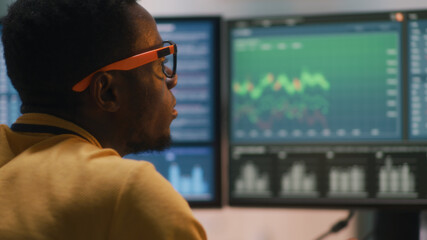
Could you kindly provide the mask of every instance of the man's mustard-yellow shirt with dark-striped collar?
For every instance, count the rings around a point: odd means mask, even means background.
[[[188,203],[152,164],[122,159],[51,115],[24,114],[16,123],[81,137],[0,125],[0,239],[206,239]]]

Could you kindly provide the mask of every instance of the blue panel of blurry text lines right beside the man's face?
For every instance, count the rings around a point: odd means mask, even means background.
[[[172,89],[178,118],[171,125],[177,142],[212,141],[215,93],[212,24],[158,22],[160,35],[178,46],[178,85]]]

